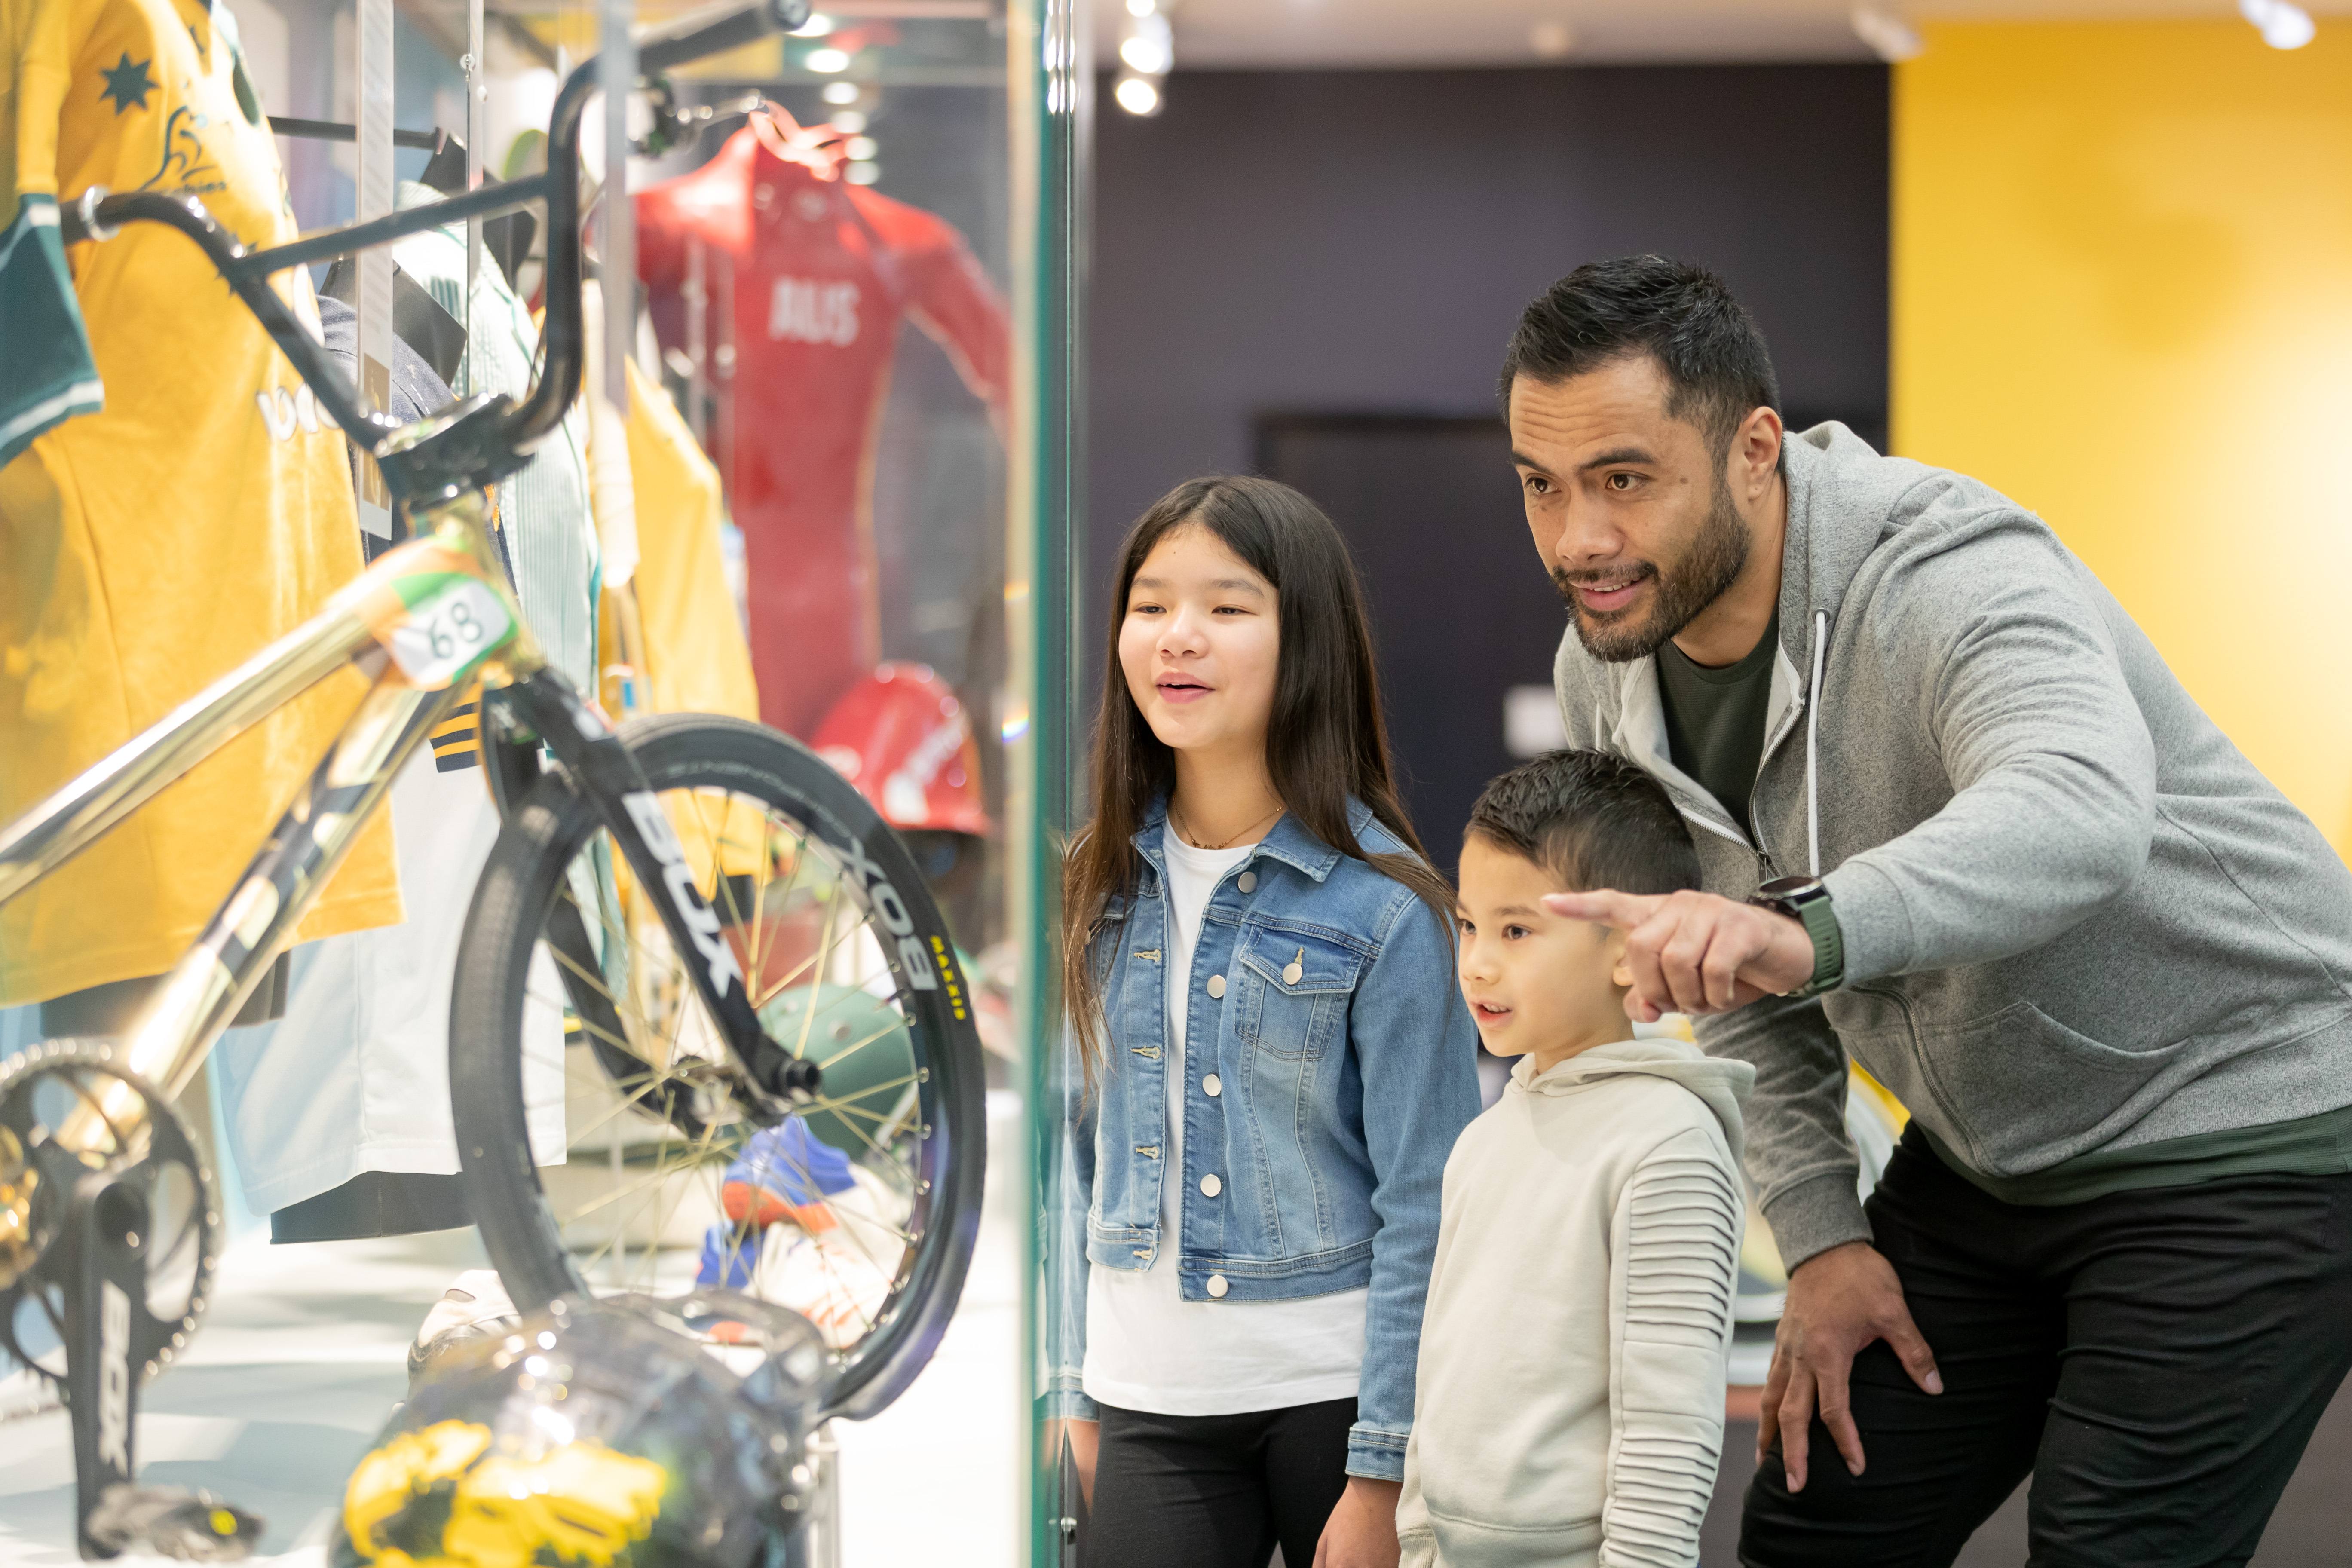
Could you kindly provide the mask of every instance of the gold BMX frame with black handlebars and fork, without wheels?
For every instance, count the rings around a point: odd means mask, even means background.
[[[701,12],[640,38],[637,63],[656,73],[767,33],[790,31],[807,19],[807,0],[755,0],[743,9]],[[564,80],[548,122],[550,172],[579,167],[581,115],[597,87],[595,59],[583,61]],[[388,414],[360,404],[350,381],[268,287],[270,275],[294,266],[534,200],[548,207],[546,364],[520,404],[503,395],[470,397],[435,418],[400,428]],[[508,729],[517,731],[517,741],[546,741],[564,764],[572,788],[595,804],[637,879],[647,889],[666,889],[668,896],[652,903],[675,950],[703,957],[701,966],[689,964],[687,971],[736,1058],[750,1070],[753,1095],[769,1095],[769,1110],[779,1112],[814,1098],[818,1081],[814,1065],[767,1039],[720,933],[717,912],[694,886],[694,877],[682,875],[684,853],[661,804],[604,717],[548,668],[489,543],[489,484],[520,468],[579,395],[583,322],[574,181],[548,174],[470,190],[266,252],[247,252],[202,202],[188,195],[108,195],[89,188],[61,214],[68,244],[106,240],[127,221],[165,223],[205,252],[294,362],[320,407],[376,458],[395,505],[416,522],[419,534],[386,552],[308,623],[216,679],[31,816],[0,830],[0,903],[5,903],[120,825],[240,731],[343,665],[358,665],[372,677],[367,696],[325,762],[287,806],[195,947],[132,1025],[127,1067],[165,1093],[186,1088],[212,1041],[235,1018],[350,853],[393,776],[456,705],[463,686],[480,677],[482,762],[501,811],[529,783],[536,757],[534,748],[513,745],[494,733],[489,724],[494,705]],[[456,632],[435,630],[433,607],[447,611],[470,607],[475,614],[492,609],[506,616],[506,628],[487,635],[485,649],[461,649],[470,658],[449,661],[440,656],[435,637]],[[506,780],[503,762],[522,762],[522,778]]]

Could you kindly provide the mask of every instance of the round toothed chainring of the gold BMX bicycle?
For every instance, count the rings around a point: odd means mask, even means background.
[[[122,1175],[146,1197],[148,1291],[132,1302],[141,1380],[188,1345],[219,1262],[221,1211],[188,1126],[113,1039],[49,1039],[0,1063],[0,1349],[64,1385],[68,1192]]]

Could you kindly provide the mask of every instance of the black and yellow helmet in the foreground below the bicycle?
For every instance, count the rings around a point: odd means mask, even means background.
[[[409,1394],[350,1472],[332,1561],[771,1568],[828,1375],[807,1321],[731,1291],[555,1302]]]

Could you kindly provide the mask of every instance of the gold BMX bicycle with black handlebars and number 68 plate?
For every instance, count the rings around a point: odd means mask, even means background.
[[[760,0],[644,33],[640,80],[659,87],[663,71],[800,26],[807,9]],[[804,1138],[783,1147],[807,1157],[821,1145],[830,1173],[800,1171],[800,1220],[823,1246],[795,1248],[802,1274],[814,1272],[802,1293],[826,1307],[816,1418],[887,1406],[929,1361],[962,1291],[985,1164],[981,1046],[915,860],[788,736],[706,715],[614,729],[548,665],[499,567],[492,487],[579,395],[579,148],[595,94],[590,59],[555,99],[546,176],[263,252],[238,244],[193,195],[92,188],[61,214],[68,244],[139,221],[195,242],[318,407],[374,456],[412,524],[407,543],[308,623],[0,830],[5,900],[341,668],[369,682],[129,1030],[0,1063],[0,1349],[56,1382],[71,1410],[85,1556],[120,1549],[120,1519],[139,1512],[136,1392],[188,1345],[219,1262],[212,1175],[172,1098],[393,776],[470,691],[501,830],[466,917],[449,1084],[468,1199],[515,1305],[689,1284],[673,1232],[715,1215],[727,1161],[790,1119]],[[543,364],[520,402],[466,397],[400,428],[355,397],[268,287],[294,266],[541,200]],[[527,1072],[532,1020],[567,1041],[560,1091]],[[602,1159],[534,1161],[532,1112],[550,1093],[572,1150],[593,1143]],[[223,1509],[212,1528],[235,1537],[245,1526]]]

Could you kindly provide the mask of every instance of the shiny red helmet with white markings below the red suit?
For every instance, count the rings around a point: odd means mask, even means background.
[[[816,726],[814,748],[891,827],[988,837],[981,748],[931,665],[877,665]]]

